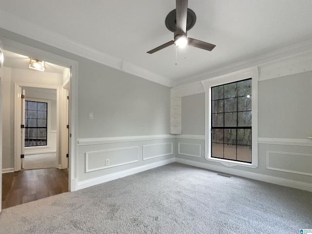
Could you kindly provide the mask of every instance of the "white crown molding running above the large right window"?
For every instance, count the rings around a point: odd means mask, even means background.
[[[274,66],[277,63],[285,62],[289,59],[298,59],[302,56],[307,56],[312,52],[312,39],[301,43],[297,43],[279,50],[275,50],[264,55],[246,59],[243,61],[235,62],[230,65],[222,66],[214,70],[203,72],[195,76],[181,79],[175,82],[175,87],[186,85],[192,82],[218,77],[238,70],[246,69],[253,66]]]

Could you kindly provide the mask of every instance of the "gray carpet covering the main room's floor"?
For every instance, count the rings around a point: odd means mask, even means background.
[[[5,209],[1,234],[299,234],[312,193],[172,163]]]

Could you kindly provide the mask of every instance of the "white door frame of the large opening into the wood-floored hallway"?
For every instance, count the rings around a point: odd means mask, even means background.
[[[44,61],[51,62],[60,66],[70,68],[70,98],[69,98],[69,174],[68,174],[68,189],[69,191],[78,190],[77,179],[77,122],[78,122],[78,61],[68,59],[45,50],[41,50],[11,39],[1,38],[3,43],[2,49],[18,54],[28,55],[29,57],[41,58]],[[2,98],[0,99],[0,106],[2,105]],[[2,115],[0,116],[2,120]],[[2,126],[2,125],[1,125]],[[2,142],[2,141],[1,141]],[[0,161],[2,161],[2,154],[0,154]],[[1,164],[0,164],[1,165]],[[2,168],[2,166],[1,166]],[[2,187],[1,191],[2,191]]]

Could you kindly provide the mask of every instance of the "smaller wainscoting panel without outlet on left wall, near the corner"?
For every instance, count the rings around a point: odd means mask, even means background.
[[[143,145],[143,160],[173,154],[173,143]]]

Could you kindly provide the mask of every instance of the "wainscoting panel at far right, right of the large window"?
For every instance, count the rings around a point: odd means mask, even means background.
[[[311,165],[312,155],[267,151],[267,169],[270,170],[312,176]]]

